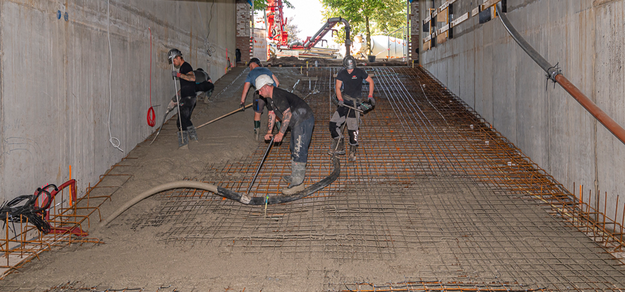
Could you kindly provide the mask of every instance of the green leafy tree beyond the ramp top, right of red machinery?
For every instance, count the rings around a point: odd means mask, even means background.
[[[405,0],[321,0],[321,4],[325,18],[345,18],[352,34],[364,32],[367,54],[371,53],[371,34],[390,33],[406,21]],[[345,33],[339,31],[336,42],[344,43],[344,39]]]

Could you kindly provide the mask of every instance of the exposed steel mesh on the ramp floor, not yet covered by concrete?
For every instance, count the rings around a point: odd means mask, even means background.
[[[334,183],[266,208],[177,189],[159,194],[160,206],[132,228],[169,224],[158,234],[163,243],[227,246],[227,253],[271,252],[344,264],[418,262],[411,274],[388,283],[317,271],[329,291],[625,288],[621,261],[601,249],[619,238],[597,235],[607,233],[588,223],[596,214],[589,216],[587,206],[477,113],[422,68],[366,70],[374,76],[376,108],[362,116],[357,161],[343,156]],[[272,71],[279,78],[299,74],[299,68]],[[316,118],[306,184],[332,171],[327,123],[338,71],[311,69],[307,75],[317,80],[296,87]],[[252,156],[209,164],[189,179],[246,193],[266,147],[260,142]],[[250,195],[278,194],[286,187],[280,178],[290,173],[289,156],[288,143],[274,145]]]

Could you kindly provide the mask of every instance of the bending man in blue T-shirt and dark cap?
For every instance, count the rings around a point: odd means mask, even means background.
[[[274,76],[274,74],[271,73],[269,69],[263,68],[261,60],[259,60],[258,58],[250,59],[249,63],[247,63],[247,66],[249,67],[249,73],[247,73],[247,78],[245,79],[245,84],[243,85],[241,104],[239,105],[239,108],[241,108],[242,110],[245,110],[245,98],[247,97],[247,91],[249,91],[249,87],[252,85],[252,83],[256,82],[256,78],[258,78],[258,76],[261,76],[262,74],[269,75],[274,81],[273,86],[277,87],[280,85],[279,81],[277,81],[276,76]],[[262,98],[259,98],[258,88],[256,88],[256,91],[254,92],[254,99],[252,101],[252,108],[254,108],[254,139],[256,139],[256,141],[258,141],[261,134],[261,114],[262,108],[264,108],[264,106],[265,101]]]

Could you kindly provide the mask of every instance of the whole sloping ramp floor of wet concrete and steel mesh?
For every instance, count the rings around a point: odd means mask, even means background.
[[[299,80],[293,92],[306,97],[316,117],[307,185],[332,171],[328,121],[336,109],[330,97],[339,69],[271,68],[281,87],[290,89]],[[364,69],[374,76],[376,107],[361,116],[357,160],[341,156],[341,174],[326,188],[267,207],[199,189],[164,191],[91,234],[104,244],[66,246],[71,252],[40,256],[42,261],[9,275],[0,287],[625,289],[622,241],[609,232],[620,230],[620,219],[614,222],[577,201],[426,70]],[[199,104],[194,123],[231,111],[240,94]],[[264,129],[266,113],[261,121]],[[251,111],[199,129],[199,142],[187,154],[175,149],[170,123],[153,145],[149,139],[139,144],[124,168],[116,168],[134,176],[113,194],[113,203],[101,206],[103,216],[166,181],[201,181],[239,193],[249,188],[267,148],[253,140]],[[281,176],[290,173],[288,148],[272,146],[249,196],[278,194],[286,186]],[[61,279],[68,284],[59,286]]]

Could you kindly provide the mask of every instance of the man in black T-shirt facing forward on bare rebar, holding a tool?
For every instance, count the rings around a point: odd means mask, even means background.
[[[347,123],[347,133],[349,134],[349,158],[347,161],[356,161],[360,113],[347,106],[360,108],[362,103],[362,80],[369,83],[367,103],[371,104],[371,106],[376,104],[375,99],[373,99],[373,79],[364,70],[356,68],[356,59],[352,56],[347,55],[343,58],[343,67],[345,69],[336,74],[334,90],[338,99],[338,107],[330,119],[329,128],[332,140],[328,154],[333,155],[335,152],[339,155],[345,154],[344,138],[340,129],[343,123]]]

